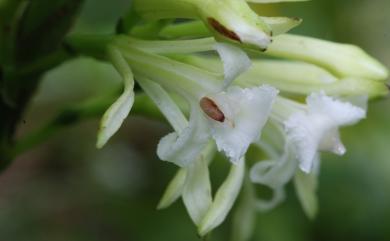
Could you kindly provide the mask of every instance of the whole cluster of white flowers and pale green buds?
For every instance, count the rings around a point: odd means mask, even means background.
[[[367,101],[388,93],[387,69],[360,48],[286,34],[301,19],[259,16],[248,2],[281,1],[135,0],[133,16],[142,21],[106,46],[124,91],[102,118],[97,146],[128,116],[136,81],[173,128],[157,155],[178,171],[158,208],[181,198],[201,236],[256,184],[273,196],[252,192],[247,210],[272,209],[293,181],[314,217],[320,152],[343,155],[339,128],[365,118]],[[249,148],[257,158],[246,158]],[[231,167],[212,192],[216,152]]]

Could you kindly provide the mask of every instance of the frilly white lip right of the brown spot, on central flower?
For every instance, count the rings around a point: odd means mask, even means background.
[[[227,92],[209,96],[225,115],[224,122],[208,118],[211,134],[218,150],[224,151],[232,162],[238,162],[260,137],[277,93],[270,86],[231,87]]]

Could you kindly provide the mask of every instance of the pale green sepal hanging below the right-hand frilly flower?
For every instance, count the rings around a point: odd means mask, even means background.
[[[318,212],[317,174],[298,170],[294,177],[294,186],[305,214],[314,219]]]

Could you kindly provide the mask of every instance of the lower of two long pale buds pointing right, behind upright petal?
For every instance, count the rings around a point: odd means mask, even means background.
[[[210,70],[222,69],[216,58],[186,56],[181,58],[181,61]],[[280,71],[281,69],[283,71]],[[334,96],[368,96],[373,99],[389,93],[384,81],[356,77],[339,78],[314,64],[287,60],[253,59],[251,67],[238,76],[235,84],[246,88],[267,84],[287,96],[306,96],[312,92],[323,91]]]

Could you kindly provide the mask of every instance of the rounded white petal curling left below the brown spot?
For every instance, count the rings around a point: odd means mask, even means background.
[[[210,135],[205,118],[199,107],[194,106],[192,109],[188,127],[180,133],[170,133],[160,140],[157,155],[161,160],[185,167],[193,162],[207,145]]]

